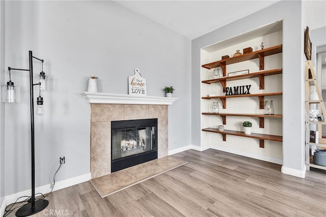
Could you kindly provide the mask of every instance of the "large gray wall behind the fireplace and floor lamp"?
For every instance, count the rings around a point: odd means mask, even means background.
[[[169,106],[169,149],[191,144],[189,39],[114,2],[6,2],[2,72],[8,66],[28,69],[29,50],[44,59],[51,81],[42,92],[46,113],[35,117],[36,187],[51,182],[61,156],[66,164],[57,181],[90,172],[90,105],[80,94],[92,74],[99,77],[99,91],[112,94],[128,94],[134,68],[147,79],[148,96],[164,97],[162,88],[173,85],[179,99]],[[34,71],[40,70],[34,60]],[[12,74],[20,103],[6,104],[6,195],[30,189],[28,77]]]

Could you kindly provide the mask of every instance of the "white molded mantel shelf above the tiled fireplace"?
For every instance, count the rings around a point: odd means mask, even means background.
[[[104,94],[103,92],[84,92],[88,103],[94,104],[138,104],[138,105],[172,105],[178,98],[132,96],[124,94]]]

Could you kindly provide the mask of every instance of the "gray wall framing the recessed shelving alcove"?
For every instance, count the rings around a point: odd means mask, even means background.
[[[268,16],[267,16],[268,15]],[[192,41],[192,144],[200,145],[200,49],[283,19],[283,167],[304,171],[302,3],[282,1]]]

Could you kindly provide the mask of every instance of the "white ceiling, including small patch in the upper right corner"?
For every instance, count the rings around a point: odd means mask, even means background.
[[[189,39],[198,38],[228,23],[255,13],[281,0],[215,0],[215,1],[122,1],[115,2],[166,26]],[[284,1],[284,0],[283,0]],[[326,0],[306,0],[309,28],[326,25]],[[312,23],[312,24],[310,24]]]

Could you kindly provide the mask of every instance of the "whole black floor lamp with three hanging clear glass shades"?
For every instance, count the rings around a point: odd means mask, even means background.
[[[35,150],[34,150],[34,85],[40,86],[40,94],[37,98],[37,114],[44,114],[43,110],[43,98],[41,97],[41,87],[45,86],[45,73],[43,72],[43,59],[39,59],[33,56],[32,51],[30,54],[30,69],[14,69],[8,67],[10,80],[5,85],[5,102],[16,102],[17,98],[17,88],[15,89],[14,82],[11,81],[11,70],[29,71],[30,72],[30,98],[31,98],[31,152],[32,152],[32,196],[31,202],[23,205],[16,211],[16,216],[29,216],[43,210],[49,202],[47,200],[35,200]],[[40,82],[33,83],[33,58],[42,61],[42,72],[40,73]],[[15,92],[16,91],[16,92]]]

